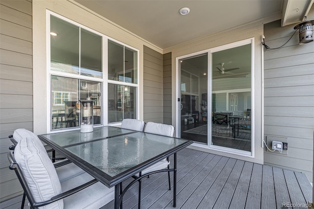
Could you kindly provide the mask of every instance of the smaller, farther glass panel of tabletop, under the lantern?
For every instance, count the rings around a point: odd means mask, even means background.
[[[89,133],[81,133],[79,130],[67,131],[60,133],[43,134],[42,136],[49,139],[60,147],[71,146],[81,142],[93,141],[102,138],[108,138],[124,133],[134,132],[128,129],[120,129],[117,127],[105,126],[94,128],[94,131]]]

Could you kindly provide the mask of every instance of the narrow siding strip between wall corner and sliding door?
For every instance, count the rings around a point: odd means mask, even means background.
[[[171,52],[163,54],[163,123],[172,124],[171,118]]]

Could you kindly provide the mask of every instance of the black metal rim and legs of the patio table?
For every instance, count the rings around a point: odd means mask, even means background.
[[[133,131],[133,132],[129,132],[129,133],[124,133],[124,134],[119,134],[119,135],[127,135],[127,134],[131,134],[134,132],[141,132],[141,131]],[[45,135],[45,134],[43,134]],[[119,135],[114,135],[114,136],[109,136],[106,138],[111,138],[111,137],[115,137],[115,136],[119,136]],[[69,146],[64,146],[64,147],[60,147],[57,144],[55,144],[54,142],[50,141],[49,139],[47,139],[46,137],[39,135],[38,136],[40,138],[40,140],[42,140],[43,142],[45,142],[48,146],[52,147],[52,149],[54,149],[55,151],[57,151],[58,153],[60,153],[61,155],[63,155],[64,157],[68,158],[70,161],[72,161],[73,163],[75,163],[76,165],[78,165],[78,167],[82,168],[84,171],[86,171],[88,174],[90,174],[91,176],[93,176],[96,180],[98,180],[99,182],[105,184],[105,186],[107,187],[115,187],[115,198],[114,198],[114,209],[119,209],[120,205],[122,204],[122,199],[124,194],[126,193],[126,191],[130,188],[130,186],[141,180],[142,178],[154,174],[154,173],[159,173],[159,172],[174,172],[174,187],[173,187],[173,207],[176,207],[176,195],[177,195],[177,152],[180,151],[181,149],[187,147],[188,145],[192,144],[192,141],[187,141],[171,150],[168,150],[165,153],[162,153],[156,157],[151,158],[150,160],[147,160],[146,162],[143,162],[137,166],[134,166],[133,168],[124,171],[122,173],[120,173],[119,175],[115,176],[115,177],[111,177],[108,174],[104,173],[103,171],[95,168],[94,166],[92,166],[91,164],[89,164],[88,162],[82,160],[81,158],[79,158],[78,156],[72,154],[71,152],[65,150],[64,148],[69,147]],[[98,141],[98,140],[104,140],[106,138],[99,138],[99,139],[95,139],[92,141]],[[82,143],[88,143],[91,141],[87,141],[87,142],[80,142],[78,144],[82,144]],[[71,146],[75,146],[77,144],[73,144]],[[169,157],[171,155],[174,155],[174,168],[173,169],[163,169],[163,170],[159,170],[159,171],[154,171],[154,172],[150,172],[147,173],[143,176],[140,176],[137,179],[134,179],[131,183],[128,184],[128,186],[122,190],[122,182],[132,176],[134,176],[135,174],[141,172],[142,170],[146,169],[147,167],[157,163],[158,161],[162,160],[165,157]]]

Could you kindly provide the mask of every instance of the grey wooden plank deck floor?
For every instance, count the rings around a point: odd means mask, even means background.
[[[177,161],[177,209],[282,209],[283,203],[307,209],[305,204],[312,202],[312,186],[302,173],[187,148]],[[137,208],[137,189],[135,183],[126,193],[124,209]],[[142,181],[142,209],[173,209],[172,197],[166,173]],[[18,209],[21,199],[0,208]],[[113,209],[113,201],[102,209]]]

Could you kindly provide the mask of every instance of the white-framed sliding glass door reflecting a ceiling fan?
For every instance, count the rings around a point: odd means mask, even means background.
[[[205,148],[252,155],[252,42],[177,59],[179,137]]]

